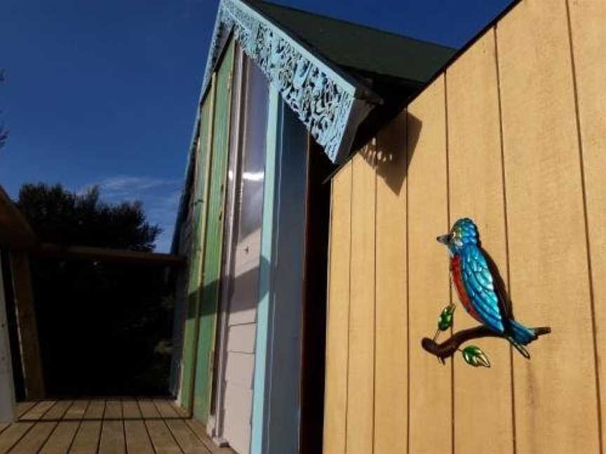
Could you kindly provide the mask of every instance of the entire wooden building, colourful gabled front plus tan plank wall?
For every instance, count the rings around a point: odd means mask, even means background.
[[[173,391],[215,442],[602,452],[605,24],[603,1],[514,2],[454,55],[221,2],[173,245]],[[499,338],[482,370],[420,345],[458,302],[435,238],[463,216],[516,317],[551,326],[530,361]]]

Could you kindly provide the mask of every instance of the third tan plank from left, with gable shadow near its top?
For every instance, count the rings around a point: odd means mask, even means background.
[[[375,453],[407,452],[406,112],[377,137]]]

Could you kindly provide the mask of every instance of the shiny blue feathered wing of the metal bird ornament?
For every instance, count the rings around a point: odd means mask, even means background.
[[[499,298],[482,250],[476,245],[467,245],[461,255],[463,284],[473,308],[485,325],[502,333],[504,326]]]

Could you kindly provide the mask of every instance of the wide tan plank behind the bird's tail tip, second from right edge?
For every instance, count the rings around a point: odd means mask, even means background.
[[[513,361],[520,453],[598,453],[584,203],[565,1],[497,28],[513,310],[551,326]]]

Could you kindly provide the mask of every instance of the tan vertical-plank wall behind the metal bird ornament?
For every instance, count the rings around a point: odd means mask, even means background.
[[[605,83],[606,1],[523,1],[335,176],[324,454],[603,452]],[[459,303],[436,235],[462,216],[551,326],[530,361],[420,346]]]

